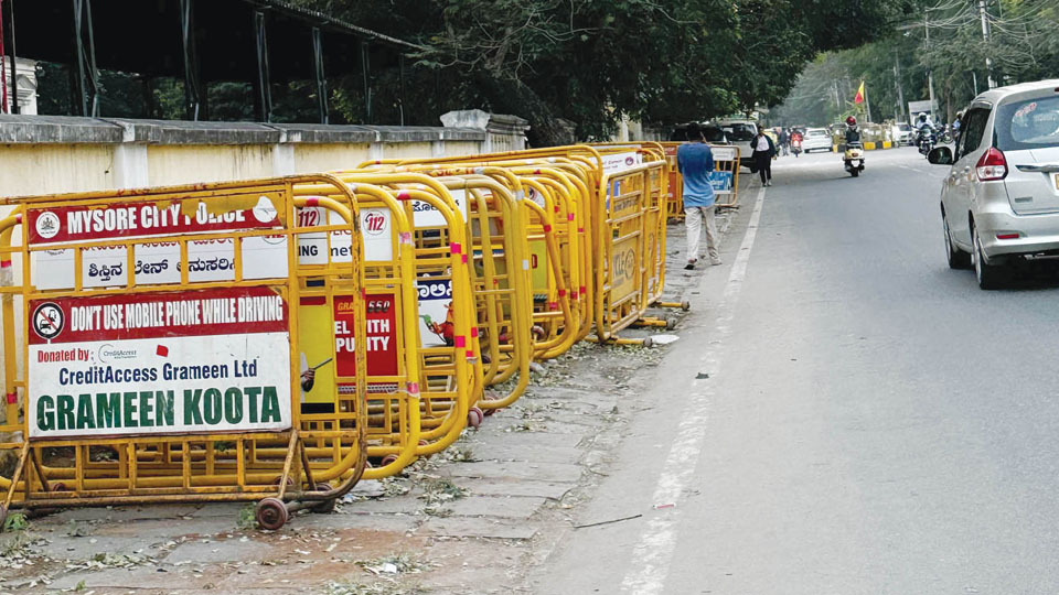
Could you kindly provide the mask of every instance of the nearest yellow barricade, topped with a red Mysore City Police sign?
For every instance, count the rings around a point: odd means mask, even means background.
[[[297,196],[307,185],[339,198]],[[259,500],[258,522],[278,528],[291,510],[328,509],[361,478],[364,271],[343,183],[317,175],[0,204],[20,209],[0,224],[0,251],[21,271],[2,289],[0,432],[17,437],[0,448],[15,450],[18,465],[0,477],[0,510]],[[309,228],[299,207],[336,217]],[[299,238],[320,230],[354,238],[349,258],[303,267]],[[309,290],[310,279],[322,283]],[[331,340],[324,361],[308,363],[303,292],[346,304],[355,369],[338,369]],[[415,393],[414,361],[405,372]],[[307,410],[313,383],[352,389]]]

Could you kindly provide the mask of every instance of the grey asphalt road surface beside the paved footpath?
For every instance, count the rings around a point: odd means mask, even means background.
[[[949,270],[913,149],[773,173],[535,589],[1059,593],[1056,271]]]

